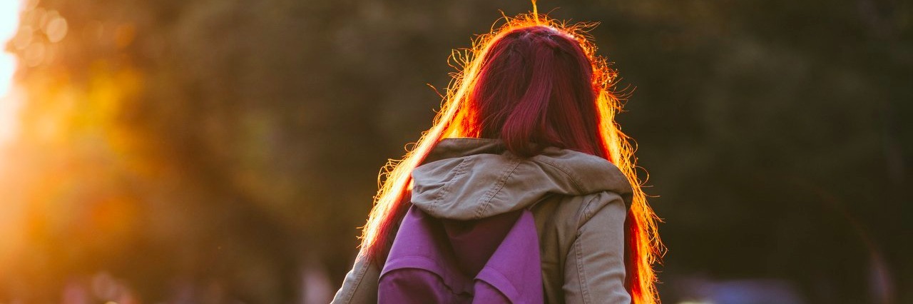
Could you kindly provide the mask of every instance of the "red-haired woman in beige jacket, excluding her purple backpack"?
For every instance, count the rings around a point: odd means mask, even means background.
[[[405,210],[468,220],[527,208],[549,303],[655,303],[656,215],[614,121],[614,71],[585,30],[535,11],[465,54],[434,125],[393,162],[333,303],[377,301]],[[484,161],[480,161],[484,160]],[[440,191],[440,185],[447,184]]]

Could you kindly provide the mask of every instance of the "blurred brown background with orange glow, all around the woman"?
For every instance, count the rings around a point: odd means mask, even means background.
[[[326,303],[446,58],[521,0],[0,0],[0,303]],[[552,10],[553,8],[557,8]],[[598,21],[666,303],[913,303],[913,4]]]

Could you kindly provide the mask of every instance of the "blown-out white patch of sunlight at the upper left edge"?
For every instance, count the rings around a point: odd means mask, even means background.
[[[19,11],[22,2],[0,1],[0,46],[16,36],[19,26]],[[15,135],[17,102],[10,89],[16,72],[16,56],[0,52],[0,143],[9,141]]]

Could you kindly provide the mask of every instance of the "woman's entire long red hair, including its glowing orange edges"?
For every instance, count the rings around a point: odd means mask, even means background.
[[[614,121],[622,104],[613,91],[614,70],[595,54],[586,33],[594,25],[566,25],[535,12],[502,20],[502,26],[477,37],[473,47],[452,54],[460,72],[447,88],[434,125],[403,160],[384,167],[362,230],[362,258],[378,257],[389,248],[409,205],[410,173],[441,139],[498,138],[520,157],[557,146],[613,162],[632,184],[625,285],[635,303],[658,302],[652,268],[661,250],[657,218],[635,173],[634,149]]]

